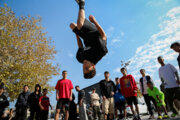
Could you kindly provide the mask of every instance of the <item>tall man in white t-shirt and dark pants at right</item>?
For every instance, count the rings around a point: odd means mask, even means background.
[[[179,100],[180,100],[180,79],[178,75],[177,69],[171,64],[165,64],[162,56],[159,56],[158,62],[161,67],[159,68],[159,77],[161,81],[165,83],[165,95],[167,97],[170,109],[173,114],[171,117],[175,117],[178,115],[178,111],[176,110],[173,102],[176,104],[176,107],[180,109]]]

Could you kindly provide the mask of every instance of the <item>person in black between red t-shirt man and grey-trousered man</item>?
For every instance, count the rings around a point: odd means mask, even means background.
[[[77,120],[77,107],[74,100],[75,100],[75,95],[74,93],[72,93],[72,101],[70,102],[69,105],[69,114],[70,114],[69,120]]]

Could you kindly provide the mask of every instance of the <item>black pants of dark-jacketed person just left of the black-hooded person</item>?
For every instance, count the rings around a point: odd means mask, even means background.
[[[16,108],[15,120],[26,120],[27,108]]]

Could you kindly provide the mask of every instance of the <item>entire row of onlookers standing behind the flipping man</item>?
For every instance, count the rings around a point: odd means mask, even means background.
[[[171,45],[171,48],[180,54],[180,43],[176,42]],[[144,101],[147,105],[150,117],[149,119],[155,119],[154,112],[152,110],[152,103],[158,111],[158,119],[169,118],[166,105],[170,107],[172,111],[171,117],[178,115],[180,110],[180,78],[178,70],[172,64],[165,64],[162,56],[157,58],[161,67],[159,68],[159,77],[162,81],[161,88],[163,92],[159,90],[152,78],[146,75],[145,69],[140,70],[142,77],[139,79],[140,92],[144,97]],[[178,57],[178,63],[180,66],[180,55]],[[130,106],[133,114],[133,120],[140,120],[140,112],[138,107],[138,87],[133,75],[128,74],[126,68],[120,69],[122,73],[121,78],[116,78],[115,83],[109,78],[110,73],[104,72],[104,80],[99,82],[101,97],[96,93],[96,89],[92,89],[91,93],[91,107],[93,108],[94,119],[101,119],[101,113],[103,113],[103,120],[118,119],[118,111],[120,111],[123,119],[127,119],[126,104]],[[56,114],[55,120],[59,119],[61,111],[65,111],[65,120],[77,120],[77,105],[74,102],[75,96],[72,92],[73,84],[71,80],[67,79],[67,71],[62,72],[62,79],[56,84]],[[79,86],[75,86],[78,92],[78,105],[79,105],[79,119],[88,120],[86,111],[85,91],[81,90]],[[50,104],[49,97],[47,97],[48,90],[43,89],[41,93],[41,86],[35,85],[34,92],[30,93],[28,85],[24,85],[23,92],[19,94],[17,102],[15,104],[16,114],[12,117],[4,115],[4,110],[9,106],[9,101],[4,93],[4,85],[0,85],[0,120],[15,119],[26,120],[27,109],[30,110],[30,120],[34,118],[36,120],[47,120]],[[102,100],[102,103],[100,103]],[[165,101],[166,100],[166,101]],[[134,109],[135,106],[135,109]],[[102,108],[102,112],[101,112]],[[162,116],[161,111],[164,111]]]

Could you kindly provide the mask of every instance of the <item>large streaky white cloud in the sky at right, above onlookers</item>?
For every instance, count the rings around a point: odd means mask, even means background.
[[[180,7],[171,9],[162,19],[164,21],[160,24],[160,32],[152,35],[146,44],[139,46],[135,55],[129,59],[131,63],[128,71],[136,80],[140,77],[141,68],[146,69],[152,77],[158,75],[158,56],[163,56],[166,63],[176,61],[177,54],[170,49],[170,45],[180,41]],[[114,72],[119,72],[118,68]],[[160,81],[156,82],[159,85]]]

